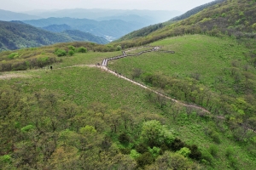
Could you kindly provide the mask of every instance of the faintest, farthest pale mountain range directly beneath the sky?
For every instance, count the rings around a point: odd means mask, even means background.
[[[150,24],[156,24],[170,20],[173,17],[182,14],[180,11],[172,10],[124,10],[124,9],[99,9],[99,8],[71,8],[71,9],[61,9],[61,10],[34,10],[27,11],[26,14],[32,14],[40,16],[42,18],[57,17],[57,18],[77,18],[77,19],[90,19],[90,20],[124,20],[131,21],[131,18],[126,20],[126,16],[137,15],[143,20],[150,20],[146,26]],[[119,18],[121,17],[121,18]],[[143,21],[141,20],[141,21]]]

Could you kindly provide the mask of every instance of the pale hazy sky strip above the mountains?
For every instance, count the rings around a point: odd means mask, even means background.
[[[185,12],[213,0],[0,0],[0,8],[15,12],[34,9],[111,8],[156,9]]]

